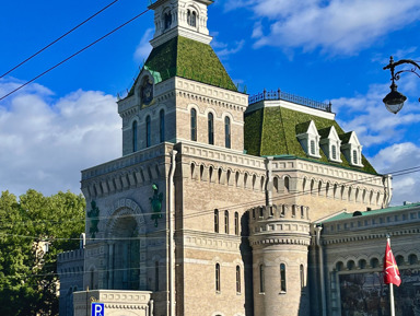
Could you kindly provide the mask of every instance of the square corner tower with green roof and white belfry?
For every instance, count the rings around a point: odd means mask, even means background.
[[[159,0],[153,46],[128,95],[118,101],[122,155],[162,142],[244,149],[248,97],[209,45],[209,0]]]

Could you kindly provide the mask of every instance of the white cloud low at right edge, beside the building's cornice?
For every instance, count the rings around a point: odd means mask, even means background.
[[[411,142],[396,143],[381,150],[371,162],[380,173],[395,173],[393,178],[394,197],[393,204],[401,204],[404,201],[420,201],[419,172],[412,173],[409,168],[419,166],[420,148]],[[406,171],[406,174],[396,172]]]

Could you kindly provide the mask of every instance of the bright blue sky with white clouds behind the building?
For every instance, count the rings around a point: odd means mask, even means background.
[[[2,1],[0,75],[112,0]],[[119,0],[0,79],[0,97],[145,10]],[[345,130],[381,173],[420,165],[420,79],[402,74],[398,115],[388,93],[389,56],[420,60],[418,0],[224,0],[209,8],[212,46],[248,94],[264,89],[332,103]],[[147,58],[153,12],[0,101],[0,191],[79,192],[80,171],[121,154],[117,93]],[[393,203],[418,201],[419,174],[394,178]]]

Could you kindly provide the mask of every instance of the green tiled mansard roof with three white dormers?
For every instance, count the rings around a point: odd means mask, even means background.
[[[377,174],[364,156],[362,156],[363,167],[354,167],[349,164],[342,153],[342,163],[330,162],[322,150],[319,151],[320,159],[306,155],[296,134],[305,132],[311,120],[314,121],[318,131],[334,126],[339,136],[346,134],[337,121],[331,119],[280,106],[262,107],[245,114],[245,150],[248,154],[257,156],[292,155],[324,164]]]

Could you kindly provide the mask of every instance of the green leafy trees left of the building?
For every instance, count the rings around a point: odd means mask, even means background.
[[[84,209],[83,197],[69,191],[1,194],[0,315],[58,315],[57,255],[78,248]]]

